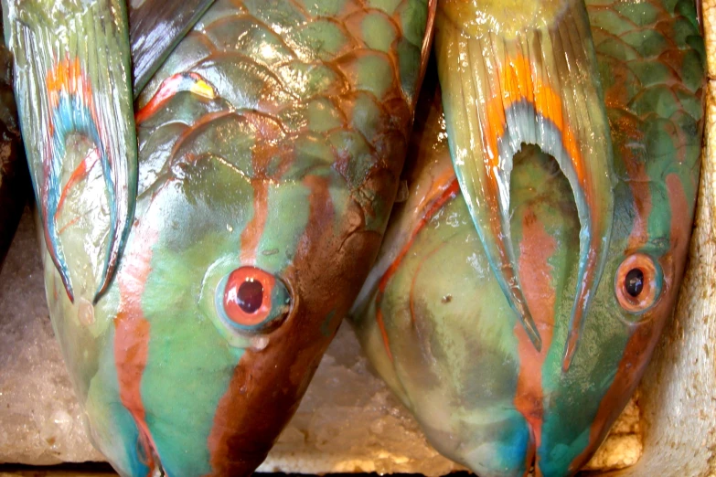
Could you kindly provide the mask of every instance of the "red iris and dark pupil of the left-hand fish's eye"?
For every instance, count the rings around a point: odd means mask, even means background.
[[[255,267],[233,270],[224,288],[224,311],[240,326],[262,323],[271,314],[272,291],[276,279]]]

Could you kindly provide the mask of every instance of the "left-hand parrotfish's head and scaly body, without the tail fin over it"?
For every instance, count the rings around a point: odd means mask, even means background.
[[[92,439],[122,474],[253,472],[368,274],[396,194],[434,2],[244,4],[210,8],[136,101],[134,219],[96,303],[82,286],[102,273],[98,217],[83,213],[104,207],[96,164],[58,217],[77,276],[72,302],[47,267],[51,315]],[[363,25],[387,35],[373,42]]]

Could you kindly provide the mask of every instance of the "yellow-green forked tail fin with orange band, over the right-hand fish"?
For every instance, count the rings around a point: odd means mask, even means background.
[[[455,172],[491,267],[538,350],[540,334],[510,240],[512,158],[523,143],[539,145],[572,186],[581,224],[580,266],[566,370],[609,244],[612,145],[582,1],[510,5],[439,5],[435,43],[446,126]]]

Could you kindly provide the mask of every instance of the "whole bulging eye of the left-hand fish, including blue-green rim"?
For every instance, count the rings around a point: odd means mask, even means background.
[[[271,273],[240,267],[219,281],[215,302],[219,317],[231,328],[261,333],[283,322],[291,295]]]

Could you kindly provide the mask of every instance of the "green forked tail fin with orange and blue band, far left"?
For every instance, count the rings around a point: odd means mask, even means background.
[[[91,298],[96,301],[112,279],[136,200],[137,142],[125,5],[120,0],[3,0],[3,12],[5,37],[15,55],[20,124],[45,239],[70,300],[75,284],[58,216],[68,192],[68,184],[62,184],[68,182],[62,179],[68,157],[80,154],[75,150],[77,138],[91,144],[80,172],[69,179],[69,187],[82,188],[83,201],[99,202],[100,197],[96,188],[85,187],[82,168],[101,164],[100,194],[106,196],[109,210],[103,247],[90,238],[83,240],[87,253],[101,255],[90,260],[102,264],[92,284]],[[88,229],[97,227],[102,225],[93,221]]]

